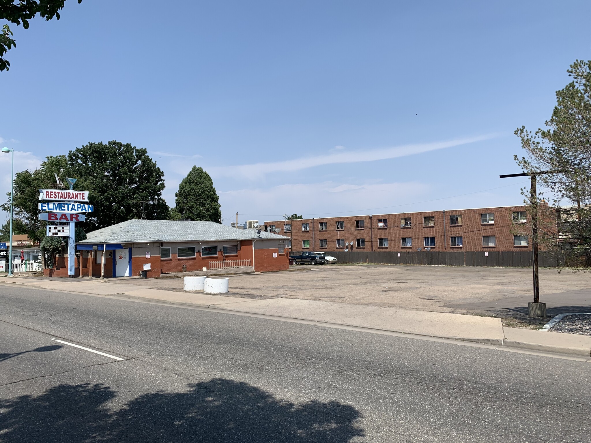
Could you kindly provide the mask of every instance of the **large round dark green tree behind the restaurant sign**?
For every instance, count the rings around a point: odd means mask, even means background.
[[[167,220],[162,198],[164,173],[146,149],[118,141],[89,143],[68,154],[76,188],[90,191],[94,211],[86,214],[86,232],[143,216]],[[142,210],[144,211],[142,213]]]

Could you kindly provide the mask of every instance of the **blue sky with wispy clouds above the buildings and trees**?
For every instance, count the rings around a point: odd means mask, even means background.
[[[89,141],[193,164],[224,223],[519,204],[513,131],[543,125],[589,1],[74,0],[12,26],[0,138],[16,168]],[[0,156],[2,190],[9,156]]]

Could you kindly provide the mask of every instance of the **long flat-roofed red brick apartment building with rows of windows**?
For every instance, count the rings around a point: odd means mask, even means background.
[[[292,250],[527,250],[527,207],[503,206],[265,222]]]

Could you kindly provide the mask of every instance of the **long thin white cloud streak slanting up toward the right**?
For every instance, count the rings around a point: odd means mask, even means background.
[[[261,162],[248,165],[210,167],[207,168],[207,170],[216,177],[244,177],[255,180],[271,172],[293,172],[329,164],[356,163],[405,157],[407,155],[420,154],[421,152],[435,151],[436,149],[466,145],[490,138],[493,138],[493,136],[482,135],[442,142],[402,145],[391,148],[368,149],[366,151],[344,151],[343,149],[339,149],[336,152],[333,152],[333,154],[327,155],[316,155],[313,157],[301,157],[291,160],[265,163]]]

